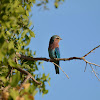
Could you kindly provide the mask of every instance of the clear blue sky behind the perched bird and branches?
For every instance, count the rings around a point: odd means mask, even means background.
[[[100,0],[65,0],[58,9],[52,0],[47,6],[49,10],[34,5],[31,11],[36,35],[29,46],[36,51],[36,57],[49,58],[49,40],[55,34],[63,39],[59,43],[61,58],[81,57],[100,45]],[[86,59],[100,65],[99,51],[100,48],[96,49]],[[39,66],[39,73],[50,74],[50,86],[46,84],[49,93],[37,93],[35,100],[100,100],[100,81],[89,65],[84,72],[84,61],[60,62],[69,79],[61,70],[56,75],[52,63],[44,61],[42,65],[44,70]],[[100,73],[100,68],[95,71]]]

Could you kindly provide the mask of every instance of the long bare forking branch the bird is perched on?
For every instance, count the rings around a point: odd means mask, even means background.
[[[95,65],[95,66],[100,67],[100,65],[97,65],[97,64],[95,64],[95,63],[91,63],[91,62],[89,62],[89,61],[87,61],[87,60],[85,59],[85,57],[86,57],[87,55],[89,55],[91,52],[93,52],[95,49],[97,49],[97,48],[99,48],[99,47],[100,47],[100,45],[98,45],[97,47],[93,48],[91,51],[89,51],[89,52],[88,52],[87,54],[85,54],[83,57],[54,58],[54,59],[40,58],[40,57],[39,57],[39,58],[33,58],[33,57],[21,55],[21,54],[19,54],[18,52],[16,52],[16,55],[17,55],[20,59],[25,59],[25,60],[28,60],[28,61],[38,61],[38,60],[42,60],[42,61],[52,62],[52,63],[55,64],[57,67],[59,67],[61,70],[62,70],[62,68],[61,68],[59,65],[57,65],[56,63],[54,63],[54,61],[70,61],[70,60],[75,60],[75,59],[77,59],[77,60],[83,60],[84,62],[86,62],[86,67],[87,67],[87,64],[89,64],[90,66],[91,66],[91,65]],[[86,67],[85,67],[84,72],[86,71]],[[93,70],[93,72],[94,72],[94,74],[95,74],[95,71],[94,71],[93,67],[91,67],[91,68],[92,68],[92,70]],[[68,75],[67,75],[63,70],[62,70],[62,72],[67,76],[67,78],[69,78]],[[95,76],[97,77],[96,74],[95,74]],[[97,77],[97,78],[98,78],[98,77]]]

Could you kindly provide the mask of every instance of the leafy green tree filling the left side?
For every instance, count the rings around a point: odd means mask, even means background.
[[[63,0],[55,0],[57,8]],[[27,61],[17,57],[20,53],[28,57],[36,54],[27,46],[35,37],[29,20],[33,4],[46,7],[49,0],[1,0],[0,1],[0,99],[34,100],[35,94],[47,94],[45,83],[49,74],[36,74],[41,62]],[[40,85],[41,83],[41,85]]]

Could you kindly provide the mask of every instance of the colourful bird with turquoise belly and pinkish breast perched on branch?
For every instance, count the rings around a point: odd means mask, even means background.
[[[53,58],[60,58],[60,51],[59,51],[59,41],[62,40],[58,35],[53,35],[49,41],[49,57]],[[59,61],[55,61],[57,65],[59,65]],[[59,74],[59,68],[55,65],[56,74]]]

